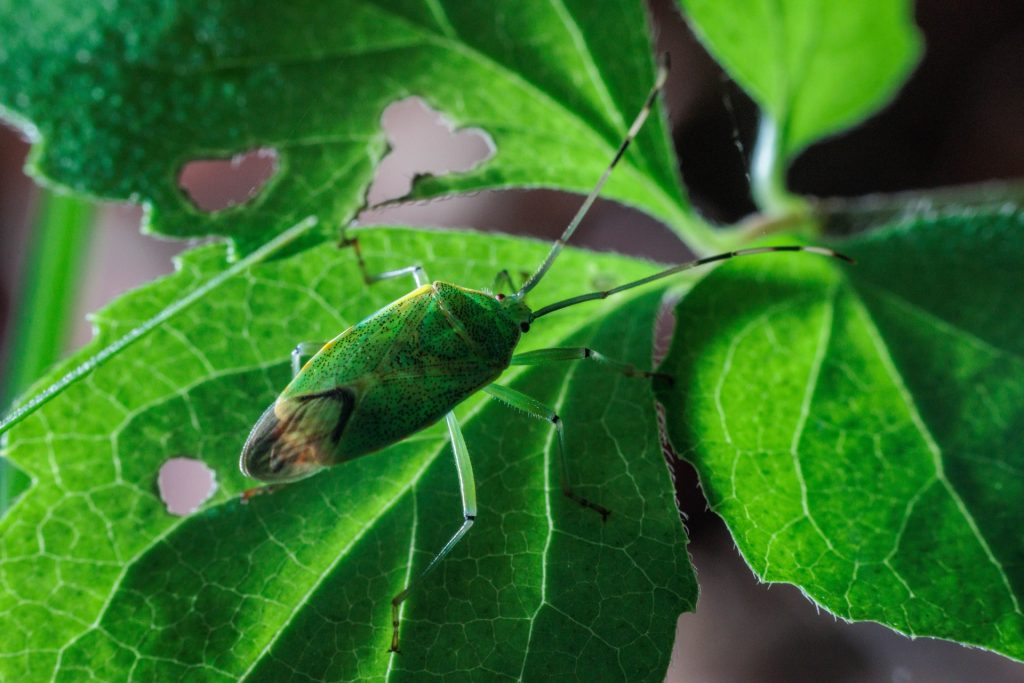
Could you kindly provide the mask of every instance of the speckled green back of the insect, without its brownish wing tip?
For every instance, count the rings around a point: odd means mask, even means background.
[[[493,382],[519,335],[492,295],[425,285],[326,344],[282,393],[278,412],[342,388],[351,409],[322,412],[344,421],[341,437],[321,445],[324,464],[350,460],[416,433]]]

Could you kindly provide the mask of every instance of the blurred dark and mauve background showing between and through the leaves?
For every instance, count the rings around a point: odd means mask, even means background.
[[[675,5],[651,4],[658,49],[673,57],[666,101],[687,187],[709,217],[737,220],[754,211],[745,168],[757,110],[694,40]],[[794,190],[855,197],[1024,177],[1024,3],[921,0],[916,20],[927,52],[909,83],[864,125],[802,155],[790,173]],[[465,135],[440,136],[440,147],[428,146],[424,140],[438,139],[437,123],[415,102],[391,108],[384,123],[395,152],[378,176],[375,200],[401,195],[414,173],[465,168],[482,148]],[[22,173],[27,152],[16,131],[0,126],[0,353],[35,199]],[[214,168],[190,182],[230,194],[254,184],[261,172],[256,162],[241,173]],[[360,220],[553,239],[579,203],[553,191],[481,193],[369,211]],[[171,270],[170,258],[182,245],[138,236],[138,216],[134,207],[100,210],[76,321]],[[659,260],[687,256],[663,226],[610,202],[598,202],[578,236],[579,245],[595,249]],[[77,324],[69,350],[89,336],[88,325]],[[838,623],[792,587],[759,585],[722,522],[707,512],[692,470],[677,470],[701,597],[697,612],[680,618],[670,681],[1024,681],[1024,665],[949,643],[910,641],[878,625]]]

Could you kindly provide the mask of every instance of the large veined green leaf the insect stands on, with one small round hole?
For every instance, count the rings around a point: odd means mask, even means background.
[[[529,269],[547,251],[408,229],[360,240],[374,270],[419,261],[467,286]],[[180,272],[101,311],[96,343],[223,258],[222,247],[193,251]],[[568,250],[535,303],[649,271]],[[612,510],[603,523],[562,496],[549,425],[482,397],[460,409],[480,513],[406,604],[397,656],[386,652],[390,599],[462,519],[440,426],[240,502],[253,482],[239,452],[287,382],[291,348],[409,289],[366,287],[352,252],[330,245],[260,264],[17,425],[5,455],[33,485],[0,519],[0,678],[662,681],[696,587],[647,381],[588,364],[504,381],[559,412],[582,492]],[[659,296],[546,317],[522,350],[591,344],[647,365]],[[219,484],[185,518],[156,488],[160,466],[181,456]]]

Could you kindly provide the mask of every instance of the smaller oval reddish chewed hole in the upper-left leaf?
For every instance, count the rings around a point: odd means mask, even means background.
[[[197,159],[185,164],[178,185],[202,211],[221,211],[259,195],[278,172],[278,152],[260,147],[230,159]]]

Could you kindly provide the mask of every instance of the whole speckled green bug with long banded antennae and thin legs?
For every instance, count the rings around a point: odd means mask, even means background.
[[[299,344],[292,353],[294,379],[263,413],[246,440],[240,463],[243,473],[272,486],[375,453],[441,418],[446,420],[461,487],[463,521],[420,575],[391,600],[391,651],[398,650],[401,602],[444,559],[476,520],[473,467],[453,412],[464,399],[482,390],[500,401],[550,422],[558,436],[562,492],[603,518],[609,514],[601,505],[575,493],[558,415],[537,399],[495,381],[510,366],[584,359],[603,364],[628,376],[651,377],[652,373],[584,347],[515,353],[521,336],[538,318],[736,256],[790,251],[850,260],[821,247],[744,249],[676,265],[635,282],[581,294],[537,310],[526,305],[526,295],[551,268],[647,119],[667,76],[666,59],[646,101],[597,185],[551,247],[544,262],[518,291],[512,286],[507,271],[499,273],[498,282],[504,281],[509,286],[511,293],[508,295],[444,282],[430,283],[419,265],[372,275],[367,270],[357,240],[345,241],[343,244],[354,248],[368,285],[412,276],[417,289],[326,344]],[[301,358],[312,351],[315,353],[300,368]],[[256,493],[260,490],[265,489],[255,489]]]

